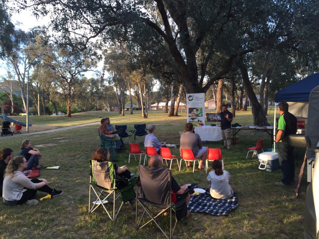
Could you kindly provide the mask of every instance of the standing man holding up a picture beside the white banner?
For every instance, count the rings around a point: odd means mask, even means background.
[[[227,148],[227,151],[230,151],[231,146],[231,129],[230,127],[231,122],[233,121],[233,114],[227,110],[227,106],[223,105],[222,107],[223,112],[220,113],[220,129],[221,129],[221,136],[224,141],[224,148]]]

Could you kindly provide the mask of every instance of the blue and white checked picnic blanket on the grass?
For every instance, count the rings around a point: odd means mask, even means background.
[[[206,192],[198,196],[191,196],[187,205],[187,210],[191,212],[204,212],[215,216],[228,215],[230,210],[238,206],[238,197],[234,192],[232,198],[221,200],[213,199],[208,188],[203,188]]]

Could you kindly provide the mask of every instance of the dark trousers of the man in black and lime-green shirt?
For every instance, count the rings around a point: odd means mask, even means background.
[[[279,157],[279,164],[283,178],[281,182],[285,185],[290,185],[295,176],[295,164],[293,158],[293,147],[288,143],[278,142],[277,152]]]

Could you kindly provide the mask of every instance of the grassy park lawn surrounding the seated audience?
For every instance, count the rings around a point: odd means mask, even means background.
[[[139,112],[140,113],[140,112]],[[179,144],[178,131],[186,123],[185,114],[180,117],[167,117],[162,111],[149,111],[148,119],[140,114],[120,116],[117,112],[85,112],[66,116],[32,116],[30,122],[35,125],[70,126],[99,121],[99,117],[110,117],[111,123],[127,124],[133,129],[135,123],[157,125],[156,136],[160,141]],[[116,121],[115,121],[116,119]],[[268,116],[273,122],[272,115]],[[251,112],[236,112],[234,123],[252,125]],[[128,206],[122,208],[116,221],[108,220],[103,210],[88,214],[89,165],[88,159],[100,146],[97,125],[65,130],[48,134],[30,135],[35,148],[39,148],[43,158],[41,164],[56,166],[59,170],[41,170],[51,187],[62,189],[63,194],[51,200],[44,200],[38,206],[5,206],[0,203],[0,238],[164,238],[156,226],[149,225],[135,230],[135,213]],[[174,238],[302,238],[304,230],[303,212],[307,186],[306,172],[303,177],[299,197],[295,198],[293,187],[276,187],[280,181],[280,170],[272,173],[258,170],[257,159],[246,159],[246,148],[255,146],[256,141],[264,139],[263,148],[270,148],[270,136],[253,130],[241,130],[238,133],[240,143],[232,151],[222,150],[225,169],[230,172],[231,186],[239,198],[238,208],[229,216],[211,216],[193,213],[187,224],[178,223]],[[10,147],[19,155],[19,146],[24,137],[3,137],[1,148]],[[37,145],[44,145],[37,147]],[[142,147],[142,144],[140,144]],[[220,142],[209,142],[205,146],[220,148]],[[172,154],[179,155],[179,149],[173,148]],[[128,163],[129,151],[117,154],[119,165]],[[298,167],[304,156],[304,150],[298,149]],[[180,158],[180,157],[178,157]],[[128,165],[132,172],[137,170],[138,162],[134,158]],[[305,170],[306,171],[306,170]],[[199,187],[208,187],[204,170],[182,167],[179,172],[176,162],[172,173],[182,185],[197,182]],[[38,192],[36,199],[45,196]],[[168,219],[160,219],[168,223]]]

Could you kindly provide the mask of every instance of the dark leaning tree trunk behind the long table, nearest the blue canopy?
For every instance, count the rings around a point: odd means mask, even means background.
[[[236,62],[240,71],[241,76],[243,79],[243,85],[245,87],[246,94],[249,97],[249,100],[251,102],[251,112],[254,117],[254,125],[256,126],[269,126],[265,112],[263,112],[263,108],[261,107],[260,103],[258,102],[255,92],[251,86],[251,83],[249,81],[248,76],[248,70],[246,65],[242,62],[242,59],[240,59],[238,62]]]

